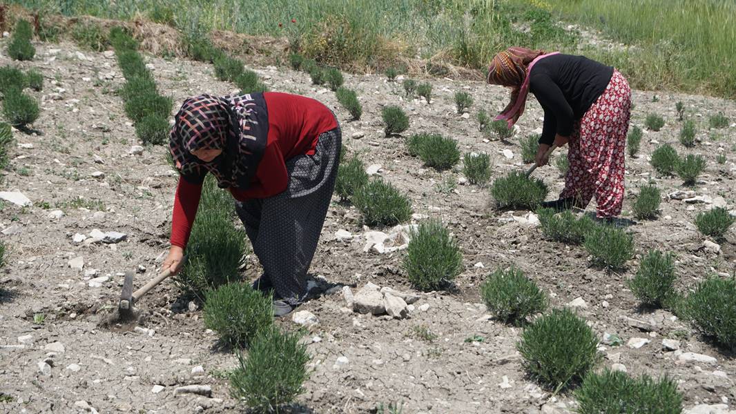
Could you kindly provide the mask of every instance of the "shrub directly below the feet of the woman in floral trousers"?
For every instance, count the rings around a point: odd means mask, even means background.
[[[604,268],[623,268],[634,257],[634,236],[613,226],[593,226],[583,245],[592,263]]]

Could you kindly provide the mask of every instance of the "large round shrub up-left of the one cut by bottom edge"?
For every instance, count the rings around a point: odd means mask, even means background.
[[[598,336],[565,308],[528,325],[517,343],[529,375],[555,393],[584,378],[598,362]]]

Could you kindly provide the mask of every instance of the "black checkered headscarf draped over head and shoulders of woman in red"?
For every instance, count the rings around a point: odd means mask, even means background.
[[[267,135],[263,94],[200,95],[186,99],[174,118],[169,150],[180,174],[190,182],[202,182],[209,172],[221,188],[247,188]],[[222,149],[222,155],[205,163],[191,154],[197,149]]]

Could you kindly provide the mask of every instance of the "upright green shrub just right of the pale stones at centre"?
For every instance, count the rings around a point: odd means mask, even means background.
[[[403,267],[415,288],[438,290],[460,274],[462,254],[442,223],[425,221],[411,233]]]

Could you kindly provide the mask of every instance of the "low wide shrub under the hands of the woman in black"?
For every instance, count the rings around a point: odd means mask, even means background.
[[[534,210],[547,196],[547,185],[541,179],[514,171],[496,179],[491,187],[491,196],[498,208]]]

